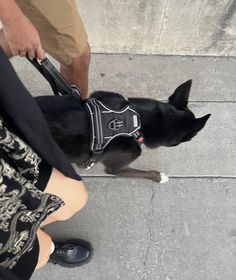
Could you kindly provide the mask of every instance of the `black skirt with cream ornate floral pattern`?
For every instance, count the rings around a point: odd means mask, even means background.
[[[37,264],[40,224],[64,204],[43,192],[51,169],[0,116],[0,266],[20,279]]]

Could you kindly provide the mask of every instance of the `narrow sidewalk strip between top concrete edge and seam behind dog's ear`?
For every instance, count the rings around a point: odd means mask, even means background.
[[[26,59],[14,58],[12,62],[32,94],[52,92]],[[178,85],[192,79],[190,101],[231,102],[236,101],[235,73],[235,57],[93,54],[89,91],[109,90],[126,97],[166,100]]]

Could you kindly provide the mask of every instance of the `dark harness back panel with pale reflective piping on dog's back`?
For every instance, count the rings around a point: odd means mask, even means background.
[[[114,111],[95,98],[86,101],[91,124],[91,150],[102,152],[116,137],[140,136],[140,116],[130,106]]]

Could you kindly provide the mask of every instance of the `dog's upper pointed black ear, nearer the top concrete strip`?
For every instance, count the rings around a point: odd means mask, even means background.
[[[169,103],[178,110],[184,110],[188,105],[188,97],[191,89],[192,80],[188,80],[178,86],[175,92],[169,97]]]

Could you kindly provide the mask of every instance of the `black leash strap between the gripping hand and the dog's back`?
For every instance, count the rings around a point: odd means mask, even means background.
[[[28,56],[26,58],[49,82],[55,95],[75,94],[80,96],[80,90],[76,86],[70,86],[48,58],[43,59],[41,62],[37,58],[31,59]]]

